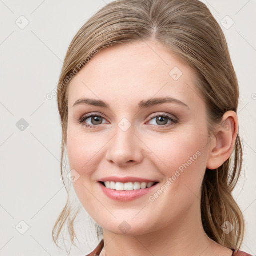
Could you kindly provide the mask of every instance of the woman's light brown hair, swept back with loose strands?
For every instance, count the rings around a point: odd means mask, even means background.
[[[60,167],[63,182],[70,77],[103,48],[146,40],[161,43],[195,72],[195,85],[206,105],[209,134],[214,135],[215,124],[221,122],[226,111],[237,113],[238,81],[226,39],[204,3],[199,0],[110,2],[79,29],[68,47],[61,69],[57,103],[62,126]],[[230,157],[215,170],[206,168],[201,187],[201,219],[205,233],[215,242],[235,250],[240,248],[244,237],[244,218],[231,194],[242,168],[242,147],[238,132]],[[73,223],[77,212],[72,212],[68,195],[52,230],[56,245],[64,224],[68,226],[74,244]],[[226,221],[234,226],[228,234],[221,229]],[[98,236],[102,227],[97,224],[96,227]]]

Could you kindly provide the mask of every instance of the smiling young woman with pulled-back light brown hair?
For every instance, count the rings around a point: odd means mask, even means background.
[[[249,255],[231,194],[242,165],[238,82],[202,2],[107,4],[73,38],[57,93],[61,163],[66,150],[103,235],[89,255]],[[67,223],[73,243],[80,208],[71,210],[68,197],[55,242]]]

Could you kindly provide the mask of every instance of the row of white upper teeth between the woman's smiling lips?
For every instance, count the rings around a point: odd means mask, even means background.
[[[155,182],[127,182],[127,183],[122,183],[122,182],[114,182],[114,181],[105,181],[104,182],[105,186],[110,189],[115,189],[115,190],[137,190],[137,189],[144,189],[151,187]]]

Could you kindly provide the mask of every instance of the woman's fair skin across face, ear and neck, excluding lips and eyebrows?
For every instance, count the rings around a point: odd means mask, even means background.
[[[173,67],[182,71],[177,80],[169,75]],[[206,106],[195,79],[188,65],[151,40],[103,49],[70,81],[67,154],[70,169],[80,175],[73,183],[75,192],[103,228],[105,247],[100,256],[231,256],[230,249],[203,230],[200,191],[205,169],[221,166],[232,153],[238,120],[235,112],[226,112],[215,136],[209,137]],[[141,100],[166,96],[189,108],[168,102],[137,109]],[[73,106],[82,97],[101,99],[109,108]],[[87,128],[78,123],[87,113],[103,118],[94,124],[89,117],[84,122],[94,128]],[[162,113],[178,122],[157,122],[155,116]],[[122,118],[131,124],[126,131],[118,127]],[[200,156],[158,198],[149,201],[197,151]],[[150,194],[119,202],[107,197],[97,182],[112,175],[144,177],[159,184]],[[130,226],[126,233],[118,228],[123,221]]]

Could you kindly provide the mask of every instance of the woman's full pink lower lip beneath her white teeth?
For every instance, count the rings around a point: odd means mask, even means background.
[[[135,200],[149,192],[152,191],[152,189],[154,189],[158,183],[156,183],[155,185],[148,187],[148,188],[144,188],[144,189],[137,189],[137,190],[115,190],[115,189],[110,189],[105,187],[104,185],[102,185],[100,182],[98,182],[102,191],[104,192],[104,194],[106,196],[108,196],[111,199],[117,200],[117,201],[132,201]]]

